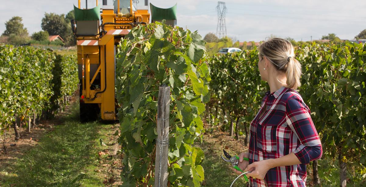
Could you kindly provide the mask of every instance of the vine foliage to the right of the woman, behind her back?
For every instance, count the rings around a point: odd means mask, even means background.
[[[366,45],[315,44],[297,50],[300,93],[311,108],[323,149],[355,166],[366,164]]]

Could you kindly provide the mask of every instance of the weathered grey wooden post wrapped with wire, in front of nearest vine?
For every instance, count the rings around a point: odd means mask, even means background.
[[[166,187],[168,184],[169,104],[170,87],[161,85],[156,120],[158,137],[155,154],[155,187]]]

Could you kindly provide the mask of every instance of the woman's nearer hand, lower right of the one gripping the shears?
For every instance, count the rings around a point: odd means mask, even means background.
[[[250,173],[247,173],[246,175],[248,177],[253,177],[257,179],[264,179],[266,176],[268,170],[272,168],[272,159],[268,160],[261,160],[254,163],[249,164],[245,171],[251,171]]]

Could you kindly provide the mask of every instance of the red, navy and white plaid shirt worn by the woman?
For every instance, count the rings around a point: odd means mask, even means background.
[[[259,118],[262,110],[266,110]],[[322,146],[309,107],[293,89],[266,92],[261,109],[250,124],[249,163],[276,159],[291,152],[301,164],[268,170],[264,180],[250,178],[249,186],[304,186],[306,164],[320,159]]]

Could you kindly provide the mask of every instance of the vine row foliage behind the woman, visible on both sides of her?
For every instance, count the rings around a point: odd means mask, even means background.
[[[366,45],[343,42],[295,48],[303,64],[299,93],[311,110],[324,154],[357,171],[366,164]],[[258,51],[215,55],[208,59],[212,81],[210,106],[227,115],[245,115],[244,124],[259,109],[268,90],[258,72]],[[211,114],[213,115],[213,114]],[[354,180],[360,175],[354,175]]]

